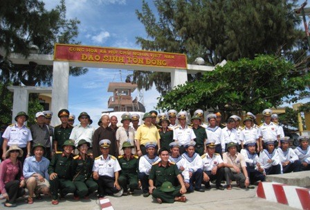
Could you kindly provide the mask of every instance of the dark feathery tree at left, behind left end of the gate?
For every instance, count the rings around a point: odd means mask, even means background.
[[[78,19],[66,19],[64,0],[55,9],[47,11],[39,0],[0,1],[0,47],[6,55],[0,56],[1,82],[20,84],[20,78],[37,85],[51,85],[53,67],[12,64],[7,56],[21,53],[28,56],[31,45],[39,48],[40,54],[53,54],[54,44],[79,44]],[[71,68],[70,74],[79,76],[86,73],[84,68]]]

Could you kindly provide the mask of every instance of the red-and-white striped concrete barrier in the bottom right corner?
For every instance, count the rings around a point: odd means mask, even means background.
[[[276,182],[259,182],[256,196],[297,209],[310,209],[310,189]]]

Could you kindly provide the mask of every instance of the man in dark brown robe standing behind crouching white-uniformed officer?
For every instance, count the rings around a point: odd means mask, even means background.
[[[110,117],[107,114],[101,116],[102,125],[97,128],[93,134],[93,157],[98,157],[101,152],[99,142],[102,139],[109,139],[109,154],[114,157],[118,156],[118,147],[116,142],[116,133],[109,127]]]

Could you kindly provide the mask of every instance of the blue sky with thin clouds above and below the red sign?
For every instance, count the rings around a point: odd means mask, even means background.
[[[44,0],[50,10],[60,1]],[[152,1],[147,1],[153,9]],[[145,28],[136,16],[136,9],[141,10],[140,0],[66,0],[68,19],[77,17],[79,35],[77,40],[82,45],[107,46],[125,49],[140,49],[136,36],[146,37]],[[97,122],[102,111],[109,110],[107,101],[112,93],[107,93],[109,82],[120,82],[122,69],[94,69],[78,77],[69,78],[69,111],[78,116],[88,112]],[[122,81],[131,71],[122,70]],[[133,97],[137,96],[137,91]],[[159,96],[154,89],[144,92],[146,110],[153,110]],[[94,126],[97,123],[94,123]]]

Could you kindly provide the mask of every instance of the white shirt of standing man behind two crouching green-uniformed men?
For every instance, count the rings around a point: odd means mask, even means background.
[[[69,139],[73,139],[75,141],[75,146],[78,146],[80,139],[85,139],[87,142],[91,143],[92,147],[94,132],[95,128],[91,127],[91,125],[87,125],[85,128],[82,125],[76,125],[72,129]]]

